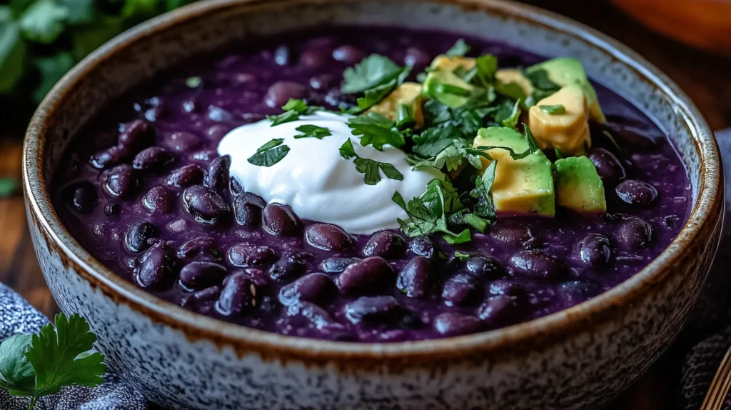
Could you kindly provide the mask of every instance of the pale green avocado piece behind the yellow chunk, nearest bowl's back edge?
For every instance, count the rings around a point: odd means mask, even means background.
[[[529,67],[526,72],[531,73],[539,69],[545,69],[548,79],[556,83],[557,86],[564,87],[573,83],[581,86],[584,94],[586,94],[591,118],[599,122],[606,121],[604,113],[602,113],[602,107],[599,105],[599,99],[596,98],[594,86],[589,83],[581,61],[569,57],[553,58]]]

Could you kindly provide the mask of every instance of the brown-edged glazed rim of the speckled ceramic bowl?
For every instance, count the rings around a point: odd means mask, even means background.
[[[721,161],[713,133],[697,107],[659,69],[605,34],[600,34],[594,29],[537,7],[499,0],[432,0],[458,4],[468,10],[483,10],[506,15],[571,34],[602,49],[617,61],[631,67],[672,99],[677,115],[683,115],[694,137],[695,148],[700,154],[701,181],[698,199],[678,237],[643,270],[622,284],[584,303],[510,327],[428,341],[336,342],[269,333],[187,311],[178,305],[159,299],[115,275],[77,243],[53,209],[50,196],[45,189],[42,164],[46,131],[53,122],[51,118],[56,115],[56,111],[59,110],[64,99],[81,79],[93,72],[101,61],[117,55],[137,40],[159,35],[183,21],[205,19],[208,15],[241,7],[256,12],[257,10],[282,10],[292,4],[327,4],[338,1],[352,0],[213,0],[191,4],[149,20],[115,37],[77,64],[50,91],[39,105],[26,133],[23,148],[23,191],[29,210],[42,227],[45,235],[51,238],[64,259],[69,260],[75,270],[93,287],[112,297],[116,303],[129,305],[133,311],[139,311],[148,316],[153,322],[181,330],[191,341],[211,341],[218,346],[232,346],[237,352],[269,353],[279,359],[287,357],[310,360],[344,357],[415,359],[418,357],[456,357],[475,352],[515,354],[516,349],[532,350],[549,341],[564,340],[572,333],[591,328],[592,322],[596,322],[596,320],[610,320],[612,315],[616,314],[616,309],[613,307],[629,305],[633,299],[645,295],[646,292],[651,292],[654,284],[670,274],[671,267],[683,252],[684,244],[697,238],[703,224],[718,223],[710,218],[715,201],[721,200],[722,189]]]

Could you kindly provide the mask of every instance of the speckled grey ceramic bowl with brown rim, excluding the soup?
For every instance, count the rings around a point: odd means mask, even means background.
[[[693,208],[678,238],[623,284],[557,314],[458,338],[369,344],[265,333],[193,314],[107,270],[59,221],[48,191],[69,140],[127,89],[251,34],[322,24],[469,33],[574,56],[650,113],[683,157]],[[721,164],[698,110],[658,69],[566,18],[493,0],[211,1],[137,26],[72,69],[24,148],[35,250],[66,312],[86,316],[113,371],[173,409],[588,409],[637,379],[689,318],[719,240]]]

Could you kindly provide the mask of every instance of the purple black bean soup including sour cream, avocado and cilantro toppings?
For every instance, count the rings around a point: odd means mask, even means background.
[[[580,61],[388,27],[172,69],[103,109],[53,186],[72,235],[146,292],[361,342],[569,308],[648,265],[691,205],[667,137]]]

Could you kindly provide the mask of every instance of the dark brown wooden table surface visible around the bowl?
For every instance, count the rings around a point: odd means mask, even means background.
[[[604,31],[637,50],[673,78],[696,102],[713,129],[731,126],[731,61],[679,45],[644,29],[600,1],[529,0]],[[1,124],[1,123],[0,123]],[[1,126],[1,125],[0,125]],[[0,129],[0,178],[20,179],[21,141]],[[13,133],[15,134],[15,133]],[[58,306],[40,273],[19,196],[0,199],[0,281],[20,292],[48,316]],[[672,409],[671,364],[660,360],[609,409]]]

